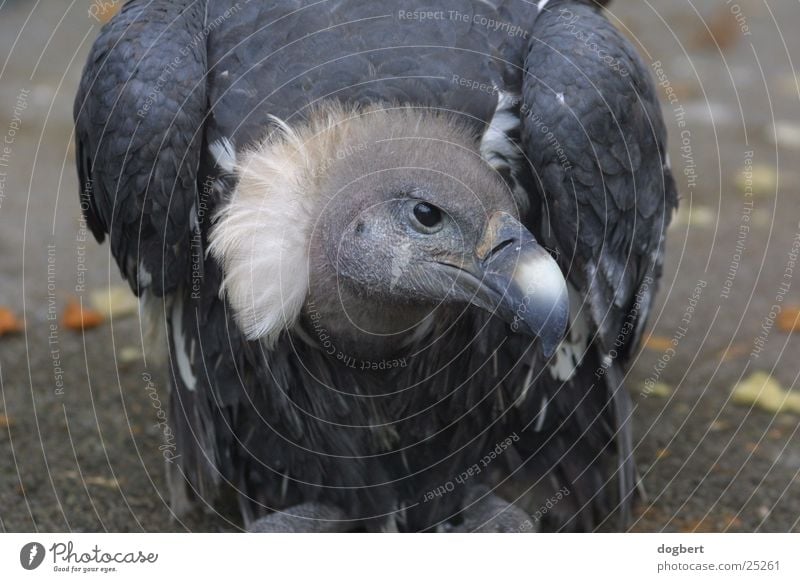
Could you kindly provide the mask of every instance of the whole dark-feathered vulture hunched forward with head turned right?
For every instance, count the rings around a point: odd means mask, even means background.
[[[677,195],[604,5],[129,0],[102,28],[80,204],[165,340],[175,515],[626,527]]]

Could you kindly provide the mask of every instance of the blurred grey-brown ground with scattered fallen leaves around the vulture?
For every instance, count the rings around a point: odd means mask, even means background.
[[[0,337],[0,531],[228,529],[170,518],[144,374],[167,390],[136,357],[136,317],[51,331],[70,297],[119,284],[78,224],[71,107],[99,27],[89,8],[0,0],[0,305],[25,324]],[[616,0],[612,18],[660,77],[683,195],[628,379],[648,493],[633,529],[800,531],[800,410],[775,412],[800,394],[800,333],[776,318],[800,305],[800,5]],[[733,402],[754,372],[776,406]]]

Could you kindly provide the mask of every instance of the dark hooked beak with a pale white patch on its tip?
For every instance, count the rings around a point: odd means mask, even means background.
[[[518,220],[495,212],[474,256],[442,263],[459,271],[453,291],[499,316],[514,332],[539,338],[550,357],[569,323],[567,283],[556,261]]]

